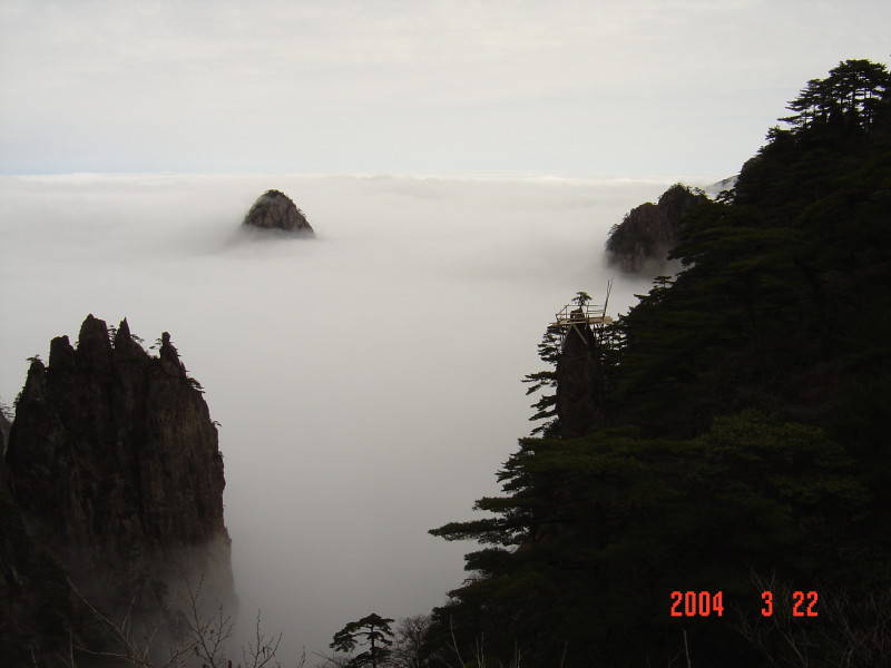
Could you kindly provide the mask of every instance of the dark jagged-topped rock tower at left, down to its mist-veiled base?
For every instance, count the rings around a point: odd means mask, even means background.
[[[114,346],[91,315],[77,348],[53,338],[49,365],[31,361],[7,463],[22,507],[85,544],[99,534],[159,548],[225,534],[216,426],[166,332],[159,357],[126,321]],[[88,521],[97,513],[107,517]]]

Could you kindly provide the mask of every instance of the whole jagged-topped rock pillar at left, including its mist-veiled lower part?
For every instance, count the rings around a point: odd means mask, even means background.
[[[217,431],[167,333],[157,357],[126,320],[110,337],[87,316],[77,347],[53,338],[49,363],[31,361],[2,468],[3,523],[55,564],[57,617],[88,600],[106,615],[131,607],[136,622],[175,635],[177,597],[199,578],[205,595],[234,603]],[[14,582],[27,569],[11,549],[1,556]],[[25,584],[3,593],[27,612]],[[43,632],[31,630],[48,651]]]

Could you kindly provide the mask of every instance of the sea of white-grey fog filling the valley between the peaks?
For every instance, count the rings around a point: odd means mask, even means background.
[[[726,176],[726,175],[716,175]],[[0,397],[88,313],[169,331],[219,421],[243,620],[326,650],[371,611],[428,612],[527,435],[523,374],[578,289],[610,313],[647,281],[604,266],[610,225],[667,184],[306,176],[0,178]],[[245,234],[267,188],[314,239]]]

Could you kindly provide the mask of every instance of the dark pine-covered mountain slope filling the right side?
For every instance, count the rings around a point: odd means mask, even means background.
[[[542,438],[486,517],[432,531],[481,547],[433,611],[431,660],[891,665],[891,77],[848,60],[789,109],[684,219],[684,269],[581,362],[598,405],[580,438],[546,333]],[[675,590],[722,591],[723,615],[672,617]],[[795,590],[819,617],[791,617]]]

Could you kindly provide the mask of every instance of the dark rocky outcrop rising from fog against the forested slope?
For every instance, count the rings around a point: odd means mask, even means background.
[[[633,208],[609,232],[606,242],[610,264],[626,272],[639,272],[649,262],[663,264],[677,244],[684,216],[707,197],[675,184],[659,196]]]

